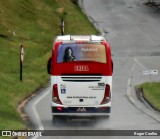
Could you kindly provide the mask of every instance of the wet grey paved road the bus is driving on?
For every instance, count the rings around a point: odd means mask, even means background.
[[[51,94],[47,88],[25,107],[25,112],[36,129],[160,130],[159,114],[140,102],[134,92],[134,86],[139,83],[160,80],[160,76],[143,75],[146,69],[160,71],[160,16],[155,9],[144,6],[143,2],[144,0],[83,0],[82,3],[82,8],[90,20],[103,34],[105,33],[104,36],[112,48],[114,75],[110,118],[92,118],[83,121],[62,119],[52,122]],[[107,138],[135,137],[109,136]]]

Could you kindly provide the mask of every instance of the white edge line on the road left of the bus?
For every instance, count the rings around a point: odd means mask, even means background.
[[[47,92],[47,91],[44,91],[44,92]],[[36,110],[36,105],[40,102],[40,100],[42,100],[46,95],[48,95],[50,93],[50,90],[48,90],[47,93],[44,93],[41,97],[39,97],[34,103],[33,103],[33,107],[32,107],[32,110],[33,110],[33,113],[36,117],[36,120],[37,120],[37,123],[38,123],[38,128],[36,128],[36,130],[44,130],[44,127],[43,127],[43,124],[42,124],[42,121],[39,117],[39,114]],[[32,137],[32,139],[37,139],[38,137],[35,136],[35,137]]]

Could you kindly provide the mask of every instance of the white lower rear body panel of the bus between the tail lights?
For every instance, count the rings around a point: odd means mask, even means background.
[[[63,76],[64,77],[64,76]],[[69,76],[51,76],[51,89],[54,84],[58,85],[59,98],[63,105],[56,104],[52,101],[52,106],[62,107],[104,107],[111,106],[111,102],[100,105],[104,98],[105,85],[110,85],[112,89],[112,76],[101,76],[100,81],[78,82],[68,81]],[[86,76],[82,76],[86,77]],[[110,90],[112,92],[112,90]],[[52,92],[52,90],[51,90]],[[112,93],[111,93],[112,94]]]

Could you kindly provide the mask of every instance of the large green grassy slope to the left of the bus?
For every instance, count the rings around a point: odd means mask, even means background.
[[[0,130],[27,128],[17,104],[47,84],[47,60],[62,18],[65,34],[98,34],[70,0],[0,0]],[[25,50],[23,82],[19,81],[20,45]]]

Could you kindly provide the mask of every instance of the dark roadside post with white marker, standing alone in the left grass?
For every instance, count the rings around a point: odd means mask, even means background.
[[[23,45],[20,46],[20,81],[23,80],[23,61],[24,61],[24,48]]]

